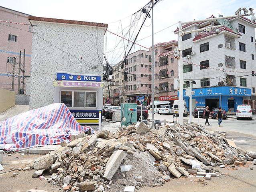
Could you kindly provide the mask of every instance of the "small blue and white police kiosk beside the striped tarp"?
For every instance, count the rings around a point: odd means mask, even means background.
[[[57,72],[55,103],[65,103],[80,124],[98,124],[103,106],[100,75]]]

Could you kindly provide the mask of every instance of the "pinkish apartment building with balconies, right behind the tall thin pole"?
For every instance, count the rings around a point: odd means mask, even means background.
[[[178,99],[178,91],[174,89],[173,78],[178,77],[178,61],[173,58],[178,42],[160,42],[154,45],[154,101],[170,101]],[[150,47],[151,48],[151,47]]]

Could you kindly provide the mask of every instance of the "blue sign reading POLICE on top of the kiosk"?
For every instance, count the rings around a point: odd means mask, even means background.
[[[57,72],[57,80],[68,81],[101,81],[101,75],[75,74],[68,72]]]

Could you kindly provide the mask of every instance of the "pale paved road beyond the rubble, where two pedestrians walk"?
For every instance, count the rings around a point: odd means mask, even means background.
[[[232,116],[236,117],[236,115]],[[199,124],[204,125],[204,127],[209,131],[214,131],[218,133],[219,131],[225,131],[227,138],[233,140],[237,147],[240,147],[246,151],[256,152],[256,115],[253,115],[254,119],[250,120],[236,120],[236,118],[223,119],[221,127],[218,125],[217,119],[209,119],[210,126],[205,125],[205,119],[199,118]],[[152,114],[149,113],[149,119],[152,119]],[[189,120],[189,116],[184,117],[184,119]],[[160,119],[167,121],[173,121],[173,115],[159,115],[154,114],[154,120]],[[198,118],[194,118],[192,115],[192,122],[198,123]]]

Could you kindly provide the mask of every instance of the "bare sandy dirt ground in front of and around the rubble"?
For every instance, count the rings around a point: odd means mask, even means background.
[[[10,153],[11,156],[4,153],[3,167],[0,172],[0,192],[26,192],[28,190],[45,190],[48,192],[63,191],[59,187],[49,184],[46,180],[32,178],[35,170],[15,170],[25,168],[30,163],[33,163],[41,155],[36,154],[20,154],[18,152]],[[10,171],[11,168],[14,171]],[[252,192],[256,191],[256,166],[252,162],[243,167],[236,166],[235,168],[219,168],[219,177],[211,178],[205,182],[204,178],[181,177],[179,179],[171,177],[169,182],[166,182],[162,187],[145,186],[136,192]],[[6,172],[10,171],[10,172]],[[2,173],[6,172],[6,173]],[[2,174],[1,174],[2,173]],[[17,173],[16,176],[13,176]],[[46,178],[50,175],[45,174]],[[113,185],[113,184],[112,184]],[[110,185],[111,187],[111,185]],[[123,190],[121,190],[123,191]]]

